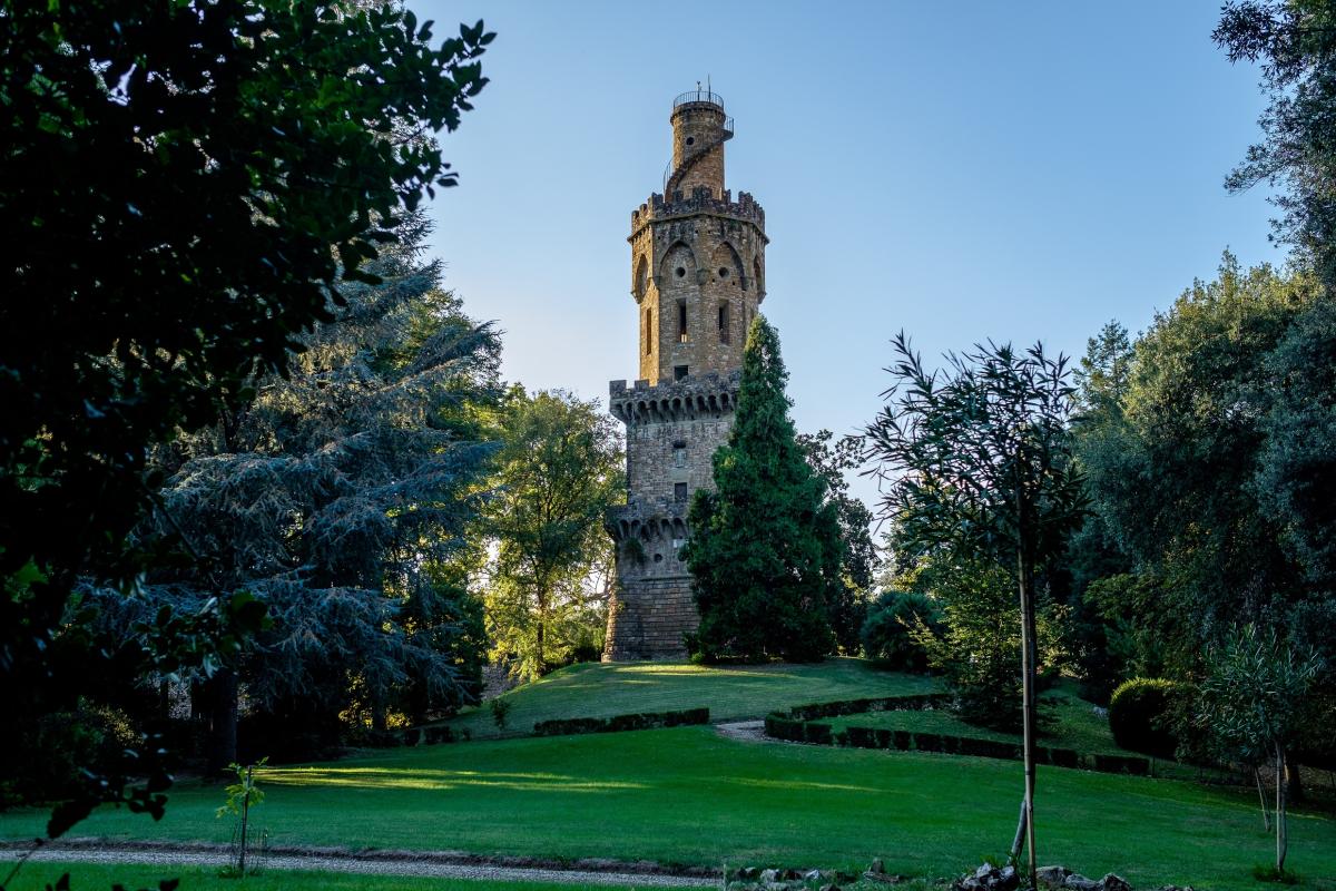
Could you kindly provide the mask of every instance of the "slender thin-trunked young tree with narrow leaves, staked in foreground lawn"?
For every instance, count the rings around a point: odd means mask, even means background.
[[[982,560],[1007,569],[1021,604],[1025,799],[1011,856],[1029,852],[1034,875],[1035,572],[1058,557],[1086,513],[1071,460],[1075,389],[1063,355],[1037,343],[975,345],[929,371],[902,331],[892,341],[894,383],[866,430],[883,484],[880,514],[902,548]]]

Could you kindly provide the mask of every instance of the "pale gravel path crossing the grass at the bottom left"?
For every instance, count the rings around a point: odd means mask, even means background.
[[[11,863],[23,856],[24,850],[0,850],[0,863]],[[63,863],[142,863],[147,866],[208,866],[227,864],[224,850],[166,844],[131,846],[107,843],[80,843],[40,848],[29,862]],[[616,862],[581,862],[588,868],[553,868],[542,866],[501,866],[480,859],[454,860],[441,852],[367,851],[358,854],[274,852],[263,860],[265,870],[317,870],[325,872],[354,872],[362,875],[405,875],[441,879],[488,879],[493,882],[550,882],[558,884],[617,884],[637,888],[703,888],[715,887],[717,879],[653,872],[655,864],[627,864]],[[621,867],[624,871],[617,871]],[[625,871],[628,867],[645,871]]]

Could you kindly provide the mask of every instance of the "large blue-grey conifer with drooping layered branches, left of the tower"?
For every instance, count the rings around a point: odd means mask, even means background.
[[[420,259],[421,219],[397,235],[365,267],[379,283],[346,286],[286,375],[255,379],[244,409],[154,458],[166,484],[144,534],[179,536],[192,558],[151,572],[148,600],[243,588],[269,608],[236,679],[265,728],[247,748],[270,743],[262,755],[309,753],[359,719],[383,727],[410,691],[417,717],[477,693],[456,664],[476,663],[481,641],[445,566],[482,506],[494,445],[473,418],[498,397],[500,341],[441,290],[440,262]],[[218,769],[235,760],[238,684],[196,692]]]

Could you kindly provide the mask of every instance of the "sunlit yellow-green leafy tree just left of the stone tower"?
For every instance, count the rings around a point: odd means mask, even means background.
[[[612,540],[604,516],[625,497],[621,442],[597,402],[510,394],[481,524],[492,657],[532,679],[597,659],[608,620]]]

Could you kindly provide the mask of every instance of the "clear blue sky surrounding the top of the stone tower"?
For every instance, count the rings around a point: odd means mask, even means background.
[[[631,211],[660,188],[673,96],[707,75],[736,119],[728,187],[766,207],[763,310],[800,430],[872,417],[900,329],[930,357],[1079,355],[1226,246],[1284,259],[1265,195],[1221,184],[1263,98],[1210,43],[1217,0],[409,7],[498,35],[444,140],[461,184],[432,206],[433,250],[529,389],[605,403],[636,377]]]

